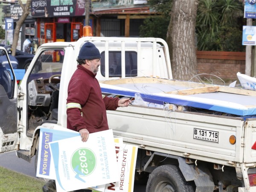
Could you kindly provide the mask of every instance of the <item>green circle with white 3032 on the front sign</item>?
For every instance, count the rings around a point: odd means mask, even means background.
[[[88,148],[77,149],[71,157],[71,167],[81,177],[90,175],[96,164],[96,155]]]

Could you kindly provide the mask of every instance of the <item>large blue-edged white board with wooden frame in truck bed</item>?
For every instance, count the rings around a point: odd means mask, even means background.
[[[168,102],[239,116],[256,115],[256,92],[250,90],[157,78],[110,80],[100,86],[102,93],[129,97],[140,93],[143,100],[153,99],[158,104]]]

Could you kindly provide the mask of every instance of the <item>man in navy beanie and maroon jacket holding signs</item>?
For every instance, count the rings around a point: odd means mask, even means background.
[[[85,43],[80,49],[76,60],[77,70],[71,77],[67,89],[67,128],[78,131],[83,142],[88,140],[90,133],[108,130],[106,110],[127,107],[131,103],[129,99],[102,96],[99,82],[95,78],[100,59],[99,49],[90,42]],[[48,181],[43,186],[43,191],[55,192],[55,182]],[[87,191],[90,190],[77,190]]]

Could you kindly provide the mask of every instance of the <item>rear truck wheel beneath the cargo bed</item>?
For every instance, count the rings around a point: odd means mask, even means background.
[[[194,182],[187,182],[180,169],[163,165],[149,175],[146,192],[194,192]]]

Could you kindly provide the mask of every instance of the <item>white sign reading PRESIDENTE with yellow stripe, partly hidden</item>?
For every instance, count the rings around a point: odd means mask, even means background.
[[[128,144],[119,145],[119,182],[106,184],[105,192],[133,192],[137,151],[137,146]]]

